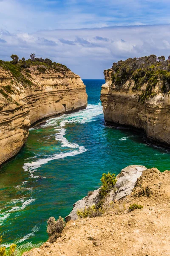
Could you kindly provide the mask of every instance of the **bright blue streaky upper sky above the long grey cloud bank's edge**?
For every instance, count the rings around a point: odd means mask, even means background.
[[[0,29],[81,29],[170,23],[169,0],[0,0]]]

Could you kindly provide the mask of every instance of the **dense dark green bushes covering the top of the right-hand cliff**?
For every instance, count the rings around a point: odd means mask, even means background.
[[[112,84],[115,90],[121,90],[123,85],[129,81],[130,87],[133,82],[133,92],[142,93],[139,95],[139,102],[156,95],[156,93],[168,93],[170,91],[170,56],[165,60],[164,56],[156,55],[141,58],[128,58],[126,61],[113,63],[111,68]],[[107,72],[107,71],[105,71]],[[145,88],[142,88],[143,85]],[[156,87],[156,91],[154,90]]]

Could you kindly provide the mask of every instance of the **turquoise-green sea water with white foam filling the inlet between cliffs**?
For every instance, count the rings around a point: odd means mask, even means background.
[[[100,90],[104,80],[84,80],[86,110],[32,128],[14,159],[0,168],[0,233],[18,255],[48,239],[46,221],[65,217],[99,186],[103,172],[139,164],[170,169],[170,152],[130,129],[105,126]]]

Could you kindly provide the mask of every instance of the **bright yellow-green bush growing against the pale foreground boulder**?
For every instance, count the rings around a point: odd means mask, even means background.
[[[102,186],[99,191],[100,198],[104,198],[110,191],[115,187],[116,184],[116,176],[115,174],[103,173],[101,177]],[[116,188],[115,188],[116,189]]]

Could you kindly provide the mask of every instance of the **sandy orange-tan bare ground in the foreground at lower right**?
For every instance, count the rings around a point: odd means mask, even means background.
[[[132,204],[143,209],[129,212]],[[130,195],[96,218],[69,221],[62,237],[23,256],[169,256],[170,171],[142,172]]]

